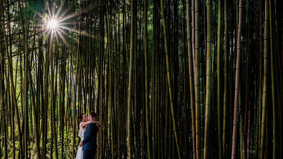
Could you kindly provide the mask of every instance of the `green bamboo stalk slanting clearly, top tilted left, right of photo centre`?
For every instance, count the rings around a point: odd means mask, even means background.
[[[167,28],[166,28],[166,21],[165,21],[165,13],[164,13],[164,1],[160,0],[161,5],[161,17],[163,21],[163,31],[164,31],[164,43],[165,43],[165,53],[166,53],[166,65],[167,65],[167,78],[168,78],[168,86],[169,86],[169,96],[170,96],[170,106],[171,106],[171,113],[172,113],[172,122],[173,122],[173,128],[174,128],[174,134],[175,134],[175,140],[176,140],[176,146],[178,151],[179,159],[181,158],[181,149],[180,149],[180,143],[179,143],[179,128],[177,125],[177,121],[175,119],[175,111],[174,111],[174,105],[173,105],[173,89],[171,85],[171,73],[170,73],[170,59],[169,59],[169,51],[168,51],[168,37],[167,37]]]

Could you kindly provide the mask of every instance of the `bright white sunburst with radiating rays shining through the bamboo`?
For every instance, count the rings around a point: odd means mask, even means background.
[[[63,0],[64,2],[65,0]],[[48,3],[45,1],[46,9],[41,10],[41,12],[35,10],[32,7],[29,7],[31,11],[33,11],[37,18],[36,20],[39,21],[39,24],[36,24],[36,27],[39,27],[41,31],[40,37],[48,36],[53,38],[55,37],[56,41],[63,41],[65,46],[68,47],[69,51],[72,51],[71,45],[68,42],[68,38],[72,38],[73,33],[78,33],[77,25],[80,25],[78,22],[78,18],[82,16],[87,8],[93,6],[92,4],[86,6],[86,8],[80,8],[80,11],[71,12],[71,8],[64,9],[63,5],[65,3],[61,3],[57,5],[55,3]],[[73,32],[73,33],[71,33]],[[80,32],[80,34],[85,36],[91,36],[91,34],[86,34],[85,32]]]

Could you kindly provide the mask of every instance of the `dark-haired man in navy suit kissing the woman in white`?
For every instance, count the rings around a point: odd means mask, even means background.
[[[88,115],[89,121],[92,121],[92,120],[96,121],[96,119],[97,119],[97,114],[95,112],[91,112]],[[80,147],[83,146],[82,148],[83,159],[94,158],[96,154],[96,149],[97,149],[97,145],[96,145],[97,131],[98,131],[98,128],[96,124],[90,123],[87,126],[84,140],[80,142]]]

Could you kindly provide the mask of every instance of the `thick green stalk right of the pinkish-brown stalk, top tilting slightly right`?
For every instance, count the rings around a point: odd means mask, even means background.
[[[269,52],[269,1],[265,0],[265,20],[264,20],[264,83],[263,83],[263,104],[261,119],[261,140],[260,140],[260,159],[264,158],[265,133],[266,133],[266,114],[267,114],[267,55]]]

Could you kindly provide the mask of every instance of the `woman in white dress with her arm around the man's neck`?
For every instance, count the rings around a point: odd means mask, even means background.
[[[102,126],[101,123],[97,122],[97,121],[88,121],[87,120],[87,115],[85,113],[80,114],[79,116],[80,118],[80,131],[79,131],[79,137],[81,138],[80,141],[84,140],[84,135],[86,132],[86,127],[88,124],[90,123],[95,123],[99,126]],[[76,159],[82,159],[83,158],[83,151],[82,151],[82,147],[78,147],[78,151],[77,151],[77,155],[76,155]]]

